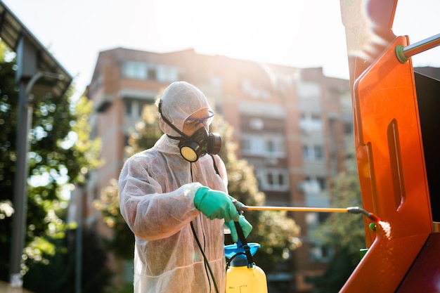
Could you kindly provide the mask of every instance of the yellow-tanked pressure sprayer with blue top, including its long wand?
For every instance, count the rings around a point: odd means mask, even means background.
[[[313,211],[330,213],[351,213],[363,214],[374,223],[379,223],[380,219],[373,213],[365,211],[360,207],[347,208],[319,208],[319,207],[249,207],[235,203],[238,212],[243,211]],[[226,245],[225,256],[228,259],[226,269],[226,293],[267,293],[266,274],[259,268],[252,256],[260,247],[258,243],[247,244],[242,228],[235,223],[238,234],[238,242],[235,245]]]

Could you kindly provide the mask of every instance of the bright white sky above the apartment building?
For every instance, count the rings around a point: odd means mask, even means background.
[[[342,0],[361,1],[361,0]],[[124,47],[197,53],[349,79],[339,0],[3,0],[74,77],[91,80],[98,53]],[[440,33],[439,0],[399,0],[393,32],[410,44]],[[440,46],[413,56],[440,67]]]

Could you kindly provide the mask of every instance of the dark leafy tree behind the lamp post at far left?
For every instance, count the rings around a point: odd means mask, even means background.
[[[0,279],[8,281],[11,216],[15,180],[18,87],[14,53],[0,42]],[[28,153],[27,227],[24,274],[37,263],[48,264],[57,253],[54,240],[65,236],[67,200],[63,187],[84,184],[90,169],[101,164],[98,140],[89,140],[91,102],[82,96],[35,96]]]

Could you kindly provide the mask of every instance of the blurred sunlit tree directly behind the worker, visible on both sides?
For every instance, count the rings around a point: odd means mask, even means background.
[[[157,108],[148,105],[143,110],[141,122],[136,124],[136,131],[129,137],[126,148],[127,155],[145,150],[153,146],[162,132],[158,126]],[[259,192],[257,179],[252,167],[243,159],[237,159],[234,154],[235,144],[231,142],[232,127],[216,115],[210,131],[221,134],[223,146],[220,157],[224,159],[228,172],[229,193],[247,205],[264,204],[265,195]],[[125,259],[133,258],[134,238],[127,224],[119,213],[119,196],[116,180],[95,202],[95,207],[103,213],[105,223],[113,228],[113,237],[110,240],[115,253]],[[278,261],[283,260],[285,249],[295,249],[301,245],[297,238],[299,227],[293,219],[287,217],[283,211],[252,211],[246,218],[254,229],[249,237],[249,242],[258,242],[261,249],[256,254],[255,260],[265,271],[271,271]],[[128,235],[131,235],[130,237]],[[129,242],[125,242],[129,241]],[[231,243],[230,237],[227,240]],[[123,252],[121,249],[125,249]]]

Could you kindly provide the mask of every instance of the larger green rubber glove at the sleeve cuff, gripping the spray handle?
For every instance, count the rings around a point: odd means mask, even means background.
[[[194,206],[209,219],[238,221],[239,215],[229,195],[202,186],[194,195]]]

